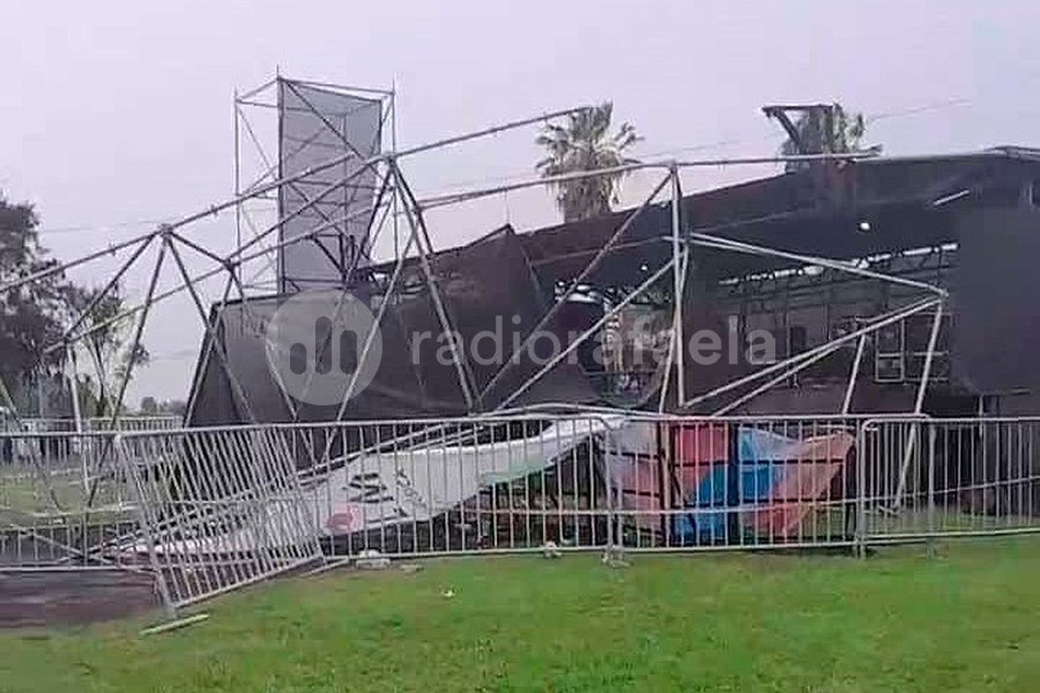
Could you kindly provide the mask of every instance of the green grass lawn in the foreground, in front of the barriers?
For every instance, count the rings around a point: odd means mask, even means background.
[[[431,561],[258,586],[159,636],[3,634],[0,690],[1040,690],[1040,539],[632,561]]]

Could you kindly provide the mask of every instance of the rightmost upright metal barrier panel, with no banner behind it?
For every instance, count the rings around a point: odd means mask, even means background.
[[[1040,419],[864,424],[863,542],[1040,531]]]

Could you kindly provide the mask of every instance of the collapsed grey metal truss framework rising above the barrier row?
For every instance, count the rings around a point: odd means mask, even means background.
[[[934,314],[934,320],[931,331],[931,341],[925,361],[924,376],[920,379],[912,410],[912,414],[919,415],[921,412],[925,392],[928,387],[929,375],[932,370],[932,361],[936,340],[938,338],[939,326],[942,321],[943,306],[947,298],[947,294],[943,289],[932,284],[877,272],[843,261],[799,255],[777,248],[736,241],[722,235],[709,233],[710,230],[691,228],[690,224],[687,224],[683,219],[682,206],[680,204],[682,201],[681,174],[686,169],[705,166],[851,160],[869,155],[822,154],[792,157],[764,156],[694,161],[651,161],[599,171],[578,171],[548,178],[532,178],[530,180],[512,182],[505,185],[470,189],[451,194],[418,198],[412,192],[412,188],[401,167],[401,164],[407,162],[409,159],[421,156],[423,153],[487,137],[502,131],[545,123],[551,121],[552,118],[574,113],[581,110],[581,108],[568,108],[543,113],[487,128],[477,132],[446,137],[444,139],[418,146],[398,149],[395,141],[396,137],[393,134],[395,129],[392,126],[394,109],[393,91],[363,90],[361,91],[362,94],[368,96],[374,95],[375,102],[380,104],[382,123],[390,124],[389,137],[386,136],[386,128],[382,131],[382,146],[385,148],[384,151],[373,156],[364,156],[363,152],[347,142],[347,151],[343,154],[333,156],[319,163],[308,166],[304,170],[297,170],[288,175],[280,176],[279,172],[283,171],[285,168],[285,162],[283,160],[284,157],[280,156],[278,160],[274,160],[269,152],[266,152],[263,149],[248,111],[250,109],[269,110],[272,104],[269,101],[263,100],[263,97],[266,94],[265,90],[271,88],[272,85],[282,84],[287,84],[289,88],[295,88],[294,85],[316,85],[315,83],[310,82],[292,82],[278,78],[259,89],[254,89],[235,97],[236,191],[232,197],[205,207],[194,213],[183,216],[180,219],[163,223],[153,231],[135,238],[122,241],[71,262],[56,265],[32,274],[7,278],[0,284],[0,291],[17,290],[32,282],[42,281],[48,276],[63,272],[73,267],[85,265],[100,258],[120,258],[121,264],[119,269],[109,276],[108,282],[104,288],[98,292],[97,295],[95,295],[94,300],[90,301],[90,303],[86,305],[78,315],[73,317],[62,337],[48,347],[48,352],[64,352],[70,356],[66,359],[66,363],[74,364],[75,358],[72,357],[72,355],[74,354],[77,343],[98,330],[105,329],[116,321],[124,320],[134,321],[132,348],[136,348],[136,345],[141,343],[146,335],[149,316],[153,306],[174,295],[182,293],[186,294],[190,297],[191,304],[194,306],[208,338],[204,342],[204,344],[207,345],[205,347],[206,351],[201,354],[201,363],[204,367],[199,369],[199,373],[201,374],[202,371],[205,370],[205,366],[207,364],[215,361],[226,372],[228,381],[231,389],[234,391],[235,397],[240,400],[242,409],[246,412],[246,421],[243,423],[258,423],[257,418],[253,415],[251,403],[243,393],[241,383],[237,382],[234,373],[230,368],[228,368],[229,355],[224,351],[220,346],[220,341],[217,339],[216,335],[217,321],[219,319],[220,312],[229,303],[229,301],[240,301],[244,306],[244,310],[248,312],[250,310],[250,301],[257,296],[258,292],[270,291],[272,278],[270,275],[271,268],[278,264],[280,255],[286,248],[296,244],[320,244],[319,239],[322,235],[327,235],[330,230],[336,232],[336,230],[343,229],[345,224],[357,223],[360,221],[364,229],[364,233],[360,236],[357,251],[352,254],[349,257],[341,256],[340,258],[340,260],[343,260],[343,258],[348,260],[348,262],[344,263],[345,266],[340,268],[342,270],[342,295],[345,296],[352,281],[359,273],[360,269],[370,267],[375,262],[373,248],[378,246],[381,238],[385,238],[387,235],[392,234],[394,238],[394,242],[392,243],[393,258],[390,263],[384,262],[382,265],[384,268],[390,267],[392,269],[390,269],[390,271],[384,271],[380,275],[372,275],[373,281],[380,283],[384,292],[387,295],[390,295],[397,289],[397,284],[400,281],[402,268],[406,264],[417,263],[421,268],[422,275],[426,283],[426,288],[433,299],[437,321],[445,334],[450,334],[453,331],[453,322],[458,316],[450,315],[446,310],[444,301],[441,300],[440,288],[437,286],[431,271],[431,259],[439,250],[444,248],[438,248],[435,244],[435,239],[438,235],[436,230],[432,230],[427,224],[425,213],[428,210],[449,205],[464,204],[472,199],[499,195],[522,188],[549,186],[603,175],[628,174],[635,170],[644,170],[658,171],[660,174],[659,182],[653,187],[652,192],[643,201],[643,203],[628,215],[624,223],[617,229],[608,241],[598,250],[598,252],[596,252],[594,257],[589,260],[584,269],[572,278],[569,286],[565,287],[562,291],[556,292],[555,303],[542,316],[538,326],[531,331],[537,331],[539,328],[549,324],[550,321],[556,317],[564,304],[583,288],[587,279],[592,276],[597,267],[608,256],[625,244],[626,233],[629,229],[631,229],[633,224],[641,219],[642,215],[646,214],[648,209],[654,206],[664,205],[671,210],[671,234],[668,239],[670,246],[669,259],[658,267],[649,268],[647,276],[642,284],[635,286],[624,295],[620,296],[619,299],[613,303],[610,310],[606,311],[604,315],[595,322],[595,324],[584,330],[577,339],[568,343],[565,348],[549,363],[543,366],[531,377],[523,381],[512,393],[512,395],[504,399],[504,401],[501,401],[495,407],[497,410],[505,410],[514,405],[525,392],[543,378],[557,363],[569,356],[583,342],[593,338],[608,321],[615,319],[626,306],[644,296],[652,289],[668,287],[665,289],[665,293],[670,293],[672,296],[672,329],[668,359],[665,366],[666,377],[660,389],[660,395],[656,407],[659,411],[665,410],[668,397],[673,393],[677,403],[676,409],[688,410],[691,407],[702,404],[703,402],[711,400],[720,395],[730,393],[738,389],[747,390],[748,387],[754,385],[752,390],[740,395],[736,401],[730,402],[716,411],[716,414],[719,415],[726,414],[737,407],[739,404],[747,402],[753,397],[784,381],[792,374],[797,374],[801,370],[834,353],[840,347],[849,344],[855,344],[857,346],[857,356],[854,362],[852,372],[850,373],[843,410],[839,412],[848,414],[852,391],[855,385],[856,376],[860,370],[860,361],[862,358],[863,346],[866,338],[879,329],[882,329],[893,322],[900,321],[907,316],[919,313],[932,313]],[[358,89],[333,87],[324,84],[317,86],[321,86],[323,88],[336,88],[341,90],[343,94],[359,92]],[[318,115],[320,114],[318,113]],[[244,149],[242,146],[243,139],[249,142],[250,146],[256,150],[257,156],[263,164],[263,170],[261,174],[255,178],[250,178],[249,180],[243,178],[244,166],[241,163],[241,156]],[[348,172],[344,174],[343,165],[346,162],[350,162],[350,169]],[[328,179],[328,182],[321,187],[316,188],[314,185],[308,185],[306,189],[301,187],[302,182],[312,184],[316,180],[315,177],[321,174],[329,174],[330,171],[335,172],[335,175]],[[309,212],[320,210],[323,201],[327,201],[334,195],[342,194],[344,189],[349,188],[352,185],[356,185],[361,180],[368,180],[374,183],[371,191],[372,202],[370,205],[363,205],[360,209],[347,209],[347,211],[340,213],[339,215],[330,216],[327,212],[321,212],[321,218],[315,223],[310,224],[309,229],[305,233],[293,235],[291,237],[285,236],[283,231],[286,228],[286,224],[300,219]],[[257,206],[266,205],[269,208],[272,201],[278,198],[279,195],[283,195],[286,190],[295,191],[294,194],[298,195],[297,199],[300,201],[300,204],[288,213],[286,213],[286,210],[283,207],[281,213],[279,214],[279,218],[270,223],[258,223],[259,215],[256,212]],[[235,215],[237,243],[235,249],[230,252],[219,252],[214,250],[212,242],[209,242],[205,238],[194,237],[191,233],[192,226],[197,222],[225,212],[231,212]],[[697,396],[687,396],[687,393],[685,392],[684,377],[686,368],[684,361],[684,325],[682,301],[679,300],[679,298],[684,295],[686,277],[691,274],[692,268],[696,266],[698,252],[702,248],[725,250],[727,252],[756,257],[776,258],[790,263],[791,265],[824,267],[840,273],[848,273],[889,285],[900,285],[904,288],[910,288],[919,291],[921,298],[898,310],[877,316],[876,318],[866,321],[865,324],[859,326],[857,329],[837,337],[836,339],[832,339],[825,344],[808,349],[802,353],[789,355],[778,363],[763,367],[750,375],[746,375],[731,382],[725,383],[711,390],[710,392]],[[207,266],[206,269],[197,272],[189,271],[188,263],[185,260],[188,256],[193,257],[196,262],[203,262]],[[115,287],[118,287],[120,281],[132,267],[139,265],[150,267],[148,272],[150,278],[144,299],[136,305],[126,309],[121,314],[105,322],[88,324],[89,321],[87,318],[90,316],[92,311],[97,306],[97,304]],[[174,277],[172,284],[164,284],[160,281],[162,277],[171,273]],[[201,292],[199,291],[200,284],[209,279],[223,279],[223,290],[219,292],[220,297],[212,306],[206,304]],[[372,334],[379,329],[379,325],[384,319],[386,306],[387,301],[384,301],[378,312],[375,325],[372,327]],[[364,363],[365,358],[368,356],[369,347],[372,342],[372,334],[369,334],[363,341],[361,356],[359,359],[360,363]],[[526,342],[521,344],[520,348],[523,348],[524,346],[526,346]],[[485,395],[493,385],[497,384],[504,376],[510,368],[510,359],[505,361],[491,381],[482,389],[478,388],[477,383],[474,381],[470,365],[467,362],[467,356],[463,350],[459,349],[458,345],[451,345],[451,358],[456,375],[458,377],[458,384],[465,397],[467,408],[473,415],[488,414],[488,411],[486,411],[482,406],[483,395]],[[132,368],[126,369],[126,373],[123,374],[118,388],[114,390],[115,395],[112,403],[113,406],[111,408],[112,414],[110,422],[112,426],[116,424],[119,418],[122,416],[121,411],[123,410],[123,401],[126,395],[128,382],[132,377]],[[200,375],[197,374],[197,377],[200,377]],[[357,374],[355,374],[355,380],[352,380],[349,387],[344,393],[342,405],[339,407],[336,416],[337,421],[341,420],[344,416],[346,401],[354,394],[356,378]],[[75,383],[75,377],[70,377],[70,380],[73,383]],[[198,384],[198,382],[196,384]],[[192,391],[194,390],[196,388],[192,388]],[[292,408],[292,398],[288,395],[285,395],[285,397],[287,405]],[[194,402],[189,402],[189,411],[194,405]]]

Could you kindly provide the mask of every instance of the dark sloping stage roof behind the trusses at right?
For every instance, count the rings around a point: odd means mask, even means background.
[[[822,163],[796,172],[687,195],[685,230],[804,255],[859,259],[956,240],[950,216],[965,206],[1018,195],[1040,177],[1040,151],[998,148],[966,155],[889,157]],[[580,272],[633,210],[520,233],[545,282]],[[869,231],[862,231],[866,222]],[[631,284],[643,264],[671,257],[668,203],[648,208],[625,233],[603,276]],[[655,240],[656,239],[656,240]],[[702,249],[723,275],[789,263]]]

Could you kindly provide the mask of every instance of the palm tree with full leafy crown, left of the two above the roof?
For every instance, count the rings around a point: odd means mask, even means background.
[[[628,123],[610,135],[613,111],[614,104],[606,102],[571,113],[566,126],[547,124],[535,140],[548,151],[548,155],[536,164],[542,177],[639,163],[625,152],[642,137]],[[625,176],[614,172],[553,183],[556,206],[564,213],[564,221],[608,214],[610,205],[619,202],[621,181]]]

